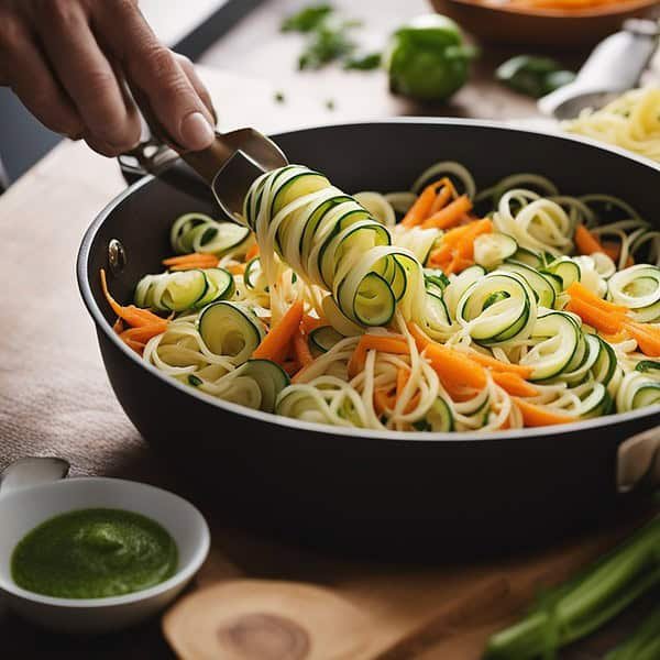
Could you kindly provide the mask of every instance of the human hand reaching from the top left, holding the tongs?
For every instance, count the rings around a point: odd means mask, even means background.
[[[213,140],[208,91],[189,59],[158,43],[138,0],[0,0],[0,85],[46,127],[107,156],[140,141],[127,88],[184,148]]]

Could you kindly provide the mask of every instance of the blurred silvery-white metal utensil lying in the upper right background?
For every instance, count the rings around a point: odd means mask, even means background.
[[[637,87],[658,47],[659,35],[656,21],[626,21],[622,32],[595,47],[573,82],[539,99],[539,109],[559,120],[573,119],[584,108],[602,108]]]

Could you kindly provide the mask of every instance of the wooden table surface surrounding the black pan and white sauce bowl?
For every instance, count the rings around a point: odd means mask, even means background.
[[[274,131],[393,113],[510,119],[534,112],[529,100],[491,81],[488,72],[502,59],[501,51],[485,51],[476,81],[441,108],[419,108],[391,98],[381,73],[330,69],[298,75],[293,70],[297,37],[284,40],[277,34],[279,16],[296,4],[285,0],[265,4],[207,54],[207,64],[232,72],[205,72],[223,129],[254,124]],[[351,3],[341,4],[350,8]],[[378,11],[370,13],[367,6]],[[400,19],[424,9],[421,0],[372,0],[360,3],[360,12],[355,9],[351,15],[369,18],[370,38],[377,42]],[[280,89],[286,94],[285,103],[274,102],[274,94]],[[336,99],[334,111],[324,107],[329,89]],[[0,276],[4,283],[0,287],[0,466],[25,454],[56,454],[72,462],[74,474],[138,479],[189,495],[189,484],[180,482],[176,466],[164,464],[150,451],[112,396],[91,321],[76,289],[74,263],[81,235],[122,188],[114,162],[81,144],[64,143],[0,198]],[[559,579],[568,560],[571,565],[584,563],[612,544],[627,525],[613,520],[602,534],[491,564],[419,569],[349,562],[276,544],[228,529],[209,503],[200,506],[210,519],[215,548],[201,583],[238,572],[331,586],[365,612],[373,629],[385,637],[394,639],[402,630],[419,632],[421,626],[419,639],[404,646],[396,657],[427,660],[476,660],[474,649],[524,606],[539,583]],[[506,578],[502,593],[493,592],[498,576]],[[491,600],[484,601],[485,609],[466,626],[454,620],[439,628],[438,619],[427,615],[451,605],[453,593],[465,588],[484,598],[491,594]],[[602,657],[630,628],[638,612],[622,617],[564,657]],[[40,631],[2,610],[1,605],[0,639],[3,651],[21,658],[173,656],[158,622],[102,638],[69,638]],[[418,648],[419,640],[425,644]]]

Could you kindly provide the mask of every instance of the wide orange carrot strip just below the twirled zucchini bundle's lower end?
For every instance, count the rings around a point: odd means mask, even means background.
[[[408,330],[444,387],[457,392],[462,387],[483,389],[486,386],[486,370],[481,364],[465,353],[431,341],[415,323],[409,322]]]

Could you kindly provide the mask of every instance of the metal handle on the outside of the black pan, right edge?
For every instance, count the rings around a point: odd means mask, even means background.
[[[619,444],[616,481],[619,493],[660,487],[660,426]]]

